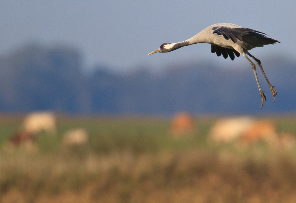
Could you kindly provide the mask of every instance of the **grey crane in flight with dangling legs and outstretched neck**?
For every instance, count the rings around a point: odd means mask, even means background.
[[[260,70],[274,96],[274,102],[275,102],[275,96],[276,96],[276,90],[274,89],[275,86],[272,86],[261,65],[261,62],[259,59],[255,58],[253,55],[251,55],[248,50],[251,50],[255,47],[263,47],[263,45],[268,44],[275,44],[276,42],[279,42],[278,40],[271,39],[269,37],[266,37],[266,34],[263,32],[259,32],[257,30],[252,30],[250,28],[245,28],[239,25],[231,24],[231,23],[220,23],[220,24],[214,24],[211,25],[201,32],[199,32],[197,35],[194,35],[188,40],[185,40],[183,42],[177,42],[177,43],[164,43],[155,51],[152,51],[150,54],[154,54],[156,52],[164,53],[164,52],[170,52],[173,50],[176,50],[178,48],[197,44],[197,43],[209,43],[211,44],[212,53],[216,53],[217,56],[223,55],[224,58],[227,58],[228,56],[231,58],[231,60],[234,60],[234,55],[237,57],[242,54],[250,63],[252,66],[252,69],[255,74],[255,78],[258,84],[260,96],[261,96],[261,108],[263,106],[263,101],[266,100],[266,97],[261,90],[257,73],[256,73],[256,65],[253,63],[250,58],[247,57],[249,55],[251,58],[253,58],[258,66],[260,67]],[[280,43],[280,42],[279,42]]]

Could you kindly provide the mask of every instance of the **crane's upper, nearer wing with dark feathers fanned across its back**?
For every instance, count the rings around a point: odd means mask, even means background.
[[[252,30],[250,28],[240,27],[234,24],[225,24],[223,26],[216,26],[216,27],[213,27],[212,30],[214,30],[213,34],[217,33],[217,35],[223,35],[223,37],[226,40],[231,39],[234,43],[237,42],[237,39],[242,41],[242,36],[250,33],[253,33],[253,34],[260,33],[257,35],[260,35],[260,37],[262,38],[268,38],[264,36],[266,34],[263,32]]]

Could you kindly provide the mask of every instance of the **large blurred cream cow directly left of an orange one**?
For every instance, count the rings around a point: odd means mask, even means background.
[[[238,139],[252,124],[250,117],[233,117],[218,120],[210,129],[209,137],[214,142],[232,142]]]

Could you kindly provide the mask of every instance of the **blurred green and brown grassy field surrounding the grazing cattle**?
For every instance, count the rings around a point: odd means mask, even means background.
[[[173,139],[164,117],[58,117],[57,135],[35,148],[7,147],[22,116],[0,116],[0,202],[296,202],[296,148],[212,145],[218,117],[197,117]],[[296,135],[296,117],[271,117]],[[84,128],[89,142],[65,146]]]

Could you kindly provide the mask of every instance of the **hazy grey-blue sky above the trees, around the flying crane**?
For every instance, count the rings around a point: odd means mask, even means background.
[[[295,10],[295,0],[4,0],[0,6],[0,54],[38,42],[81,50],[86,67],[103,64],[116,70],[138,66],[158,69],[199,60],[248,63],[242,57],[234,62],[218,58],[208,44],[148,56],[164,42],[180,42],[209,25],[227,22],[265,32],[281,42],[251,50],[255,57],[281,54],[295,60]]]

